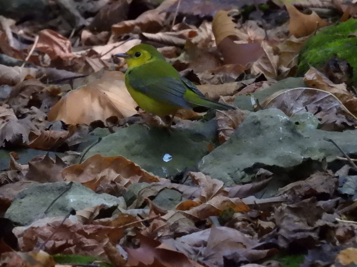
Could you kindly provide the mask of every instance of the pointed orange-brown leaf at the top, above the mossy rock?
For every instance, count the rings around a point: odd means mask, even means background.
[[[310,15],[301,13],[290,2],[284,2],[287,11],[289,12],[289,31],[290,35],[297,38],[308,36],[315,32],[317,28],[327,26],[330,23],[322,20],[315,11],[312,11]]]

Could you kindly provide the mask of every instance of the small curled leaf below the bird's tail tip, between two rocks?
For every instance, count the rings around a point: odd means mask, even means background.
[[[240,109],[221,111],[217,110],[216,120],[218,124],[218,141],[226,142],[237,127],[242,123],[246,112]]]

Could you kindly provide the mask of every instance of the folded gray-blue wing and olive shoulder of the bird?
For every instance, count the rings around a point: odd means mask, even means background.
[[[165,61],[153,61],[132,68],[128,70],[127,79],[135,90],[153,99],[181,108],[192,108],[183,97],[188,89],[186,83],[180,79],[174,67]]]

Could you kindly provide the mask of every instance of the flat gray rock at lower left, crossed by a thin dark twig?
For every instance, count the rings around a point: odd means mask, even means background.
[[[22,190],[12,201],[5,213],[5,218],[20,225],[27,225],[44,217],[65,216],[70,208],[82,210],[104,204],[108,207],[118,206],[126,209],[122,197],[97,194],[79,183],[73,183],[72,187],[56,200],[49,211],[43,214],[49,204],[68,188],[68,184],[69,182],[56,182],[31,185]]]

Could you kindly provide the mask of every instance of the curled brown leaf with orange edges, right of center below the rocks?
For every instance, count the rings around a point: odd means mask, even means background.
[[[202,204],[197,201],[186,200],[176,206],[176,210],[181,210],[182,213],[190,215],[196,220],[207,219],[210,216],[219,216],[223,210],[228,208],[234,209],[235,212],[250,210],[240,198],[227,198],[221,196],[213,197]]]

